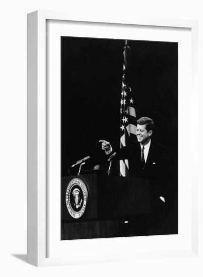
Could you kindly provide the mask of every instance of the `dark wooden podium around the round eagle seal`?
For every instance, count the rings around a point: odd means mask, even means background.
[[[66,189],[74,178],[81,179],[88,192],[85,212],[78,219],[66,205]],[[148,179],[100,174],[61,178],[61,240],[137,235],[140,219],[149,213]]]

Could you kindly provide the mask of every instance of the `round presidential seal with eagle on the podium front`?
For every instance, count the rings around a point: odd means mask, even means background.
[[[87,187],[83,180],[74,178],[67,185],[65,202],[67,211],[75,218],[79,219],[85,212],[88,199]]]

